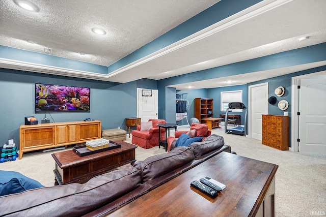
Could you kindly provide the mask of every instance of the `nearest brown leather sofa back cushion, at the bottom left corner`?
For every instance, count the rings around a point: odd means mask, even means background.
[[[81,216],[137,188],[141,171],[132,166],[102,174],[85,184],[45,187],[0,197],[0,213],[17,216]]]

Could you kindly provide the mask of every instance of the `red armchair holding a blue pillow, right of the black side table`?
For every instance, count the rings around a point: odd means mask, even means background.
[[[204,137],[203,140],[206,139],[207,136],[210,136],[210,134],[212,133],[211,130],[208,129],[207,125],[204,125],[203,123],[192,123],[192,125],[190,126],[190,130],[196,130],[196,137],[202,136]],[[176,139],[179,138],[181,136],[181,134],[183,133],[188,133],[189,131],[176,131],[174,133],[174,137],[170,136],[168,137],[168,151],[172,150],[174,148],[174,145],[172,145],[172,142]],[[202,141],[203,141],[202,140]]]

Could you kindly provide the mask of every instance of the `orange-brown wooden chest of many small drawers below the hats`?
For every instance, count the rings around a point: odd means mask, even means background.
[[[289,116],[263,114],[261,143],[280,150],[288,150]]]

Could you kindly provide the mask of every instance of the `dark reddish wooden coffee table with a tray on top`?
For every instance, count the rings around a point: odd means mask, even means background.
[[[84,157],[79,157],[73,150],[52,153],[51,156],[56,161],[56,168],[53,170],[56,177],[55,185],[85,183],[89,179],[119,166],[134,163],[137,145],[123,141],[116,142],[121,145],[120,148]]]

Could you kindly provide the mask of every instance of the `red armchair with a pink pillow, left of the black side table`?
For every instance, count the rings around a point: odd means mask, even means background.
[[[158,123],[167,123],[163,119],[149,119],[153,122],[153,128],[149,131],[141,131],[141,125],[137,126],[137,130],[131,131],[131,143],[142,148],[152,148],[158,146]],[[161,128],[160,140],[165,140],[165,129]]]

